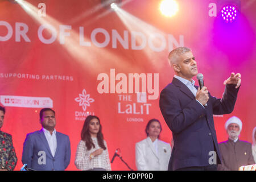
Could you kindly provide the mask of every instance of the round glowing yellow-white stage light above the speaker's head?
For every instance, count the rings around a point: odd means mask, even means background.
[[[179,6],[174,0],[163,0],[160,3],[160,11],[165,16],[174,16],[179,10]]]

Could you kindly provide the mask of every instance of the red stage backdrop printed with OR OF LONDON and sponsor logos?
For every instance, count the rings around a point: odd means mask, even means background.
[[[222,97],[223,82],[240,72],[242,84],[232,114],[216,115],[218,142],[228,139],[225,121],[243,122],[240,138],[252,142],[256,123],[255,1],[242,1],[236,22],[218,18],[211,3],[177,1],[172,18],[160,1],[122,1],[117,11],[100,0],[0,1],[0,98],[6,107],[2,131],[13,135],[22,167],[27,133],[40,130],[39,111],[56,111],[56,130],[69,135],[71,163],[86,115],[101,119],[110,160],[117,148],[134,170],[135,143],[146,138],[146,123],[162,123],[160,139],[172,133],[159,109],[159,94],[172,80],[168,52],[192,49],[210,93]],[[196,80],[196,78],[195,78]],[[196,81],[197,82],[197,81]],[[113,170],[128,170],[115,158]]]

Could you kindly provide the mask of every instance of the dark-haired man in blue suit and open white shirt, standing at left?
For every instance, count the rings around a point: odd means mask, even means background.
[[[27,134],[23,145],[22,163],[40,171],[64,171],[70,162],[71,147],[68,135],[55,130],[55,111],[40,111],[42,129]]]

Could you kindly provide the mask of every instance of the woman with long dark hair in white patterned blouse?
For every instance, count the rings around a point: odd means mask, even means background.
[[[111,170],[109,152],[101,132],[100,118],[95,115],[86,117],[77,146],[75,165],[81,170]]]

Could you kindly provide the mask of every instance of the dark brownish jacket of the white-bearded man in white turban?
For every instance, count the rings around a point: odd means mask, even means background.
[[[222,164],[218,165],[218,170],[237,171],[241,166],[255,164],[253,153],[251,151],[251,143],[228,139],[218,144],[222,156]]]

